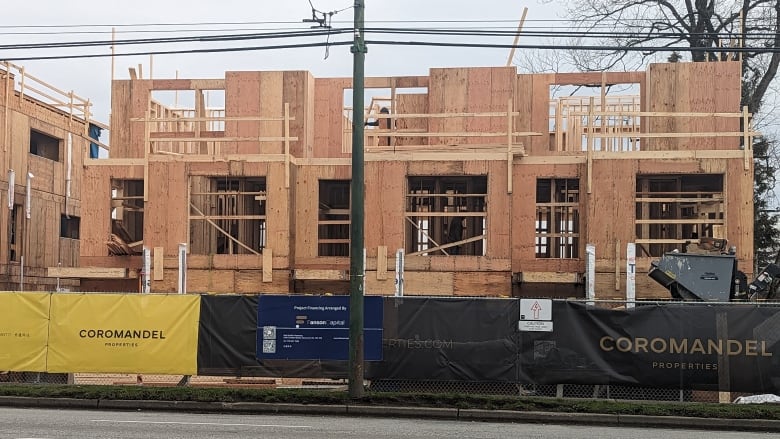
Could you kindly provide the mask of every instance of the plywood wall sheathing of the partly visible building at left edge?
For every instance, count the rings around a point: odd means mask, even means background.
[[[18,80],[18,78],[17,78]],[[86,124],[84,120],[72,117],[69,113],[57,109],[28,95],[21,96],[13,90],[11,81],[5,76],[0,79],[0,163],[5,171],[0,177],[0,188],[4,195],[3,209],[0,213],[0,273],[3,285],[16,287],[19,281],[24,257],[25,287],[29,289],[51,290],[56,279],[46,278],[46,267],[71,267],[79,264],[80,242],[69,238],[60,238],[60,218],[62,215],[81,216],[81,191],[83,186],[83,156],[88,148],[85,140]],[[59,156],[45,159],[30,154],[31,130],[61,139]],[[70,195],[66,194],[66,168],[68,164],[67,139],[72,137],[72,156],[70,160],[72,183]],[[10,211],[5,206],[8,181],[7,170],[16,173],[15,204],[22,209],[19,227],[22,234],[17,236],[16,260],[9,257]],[[27,187],[27,174],[32,173],[30,187]],[[26,193],[31,195],[31,217],[26,218]],[[77,280],[63,281],[61,286],[77,287]]]

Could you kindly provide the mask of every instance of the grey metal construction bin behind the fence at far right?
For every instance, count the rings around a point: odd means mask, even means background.
[[[665,253],[651,262],[648,276],[678,300],[735,302],[780,297],[780,253],[748,284],[745,273],[737,269],[735,249],[726,250],[726,245],[725,239],[715,238],[689,243],[685,252]]]

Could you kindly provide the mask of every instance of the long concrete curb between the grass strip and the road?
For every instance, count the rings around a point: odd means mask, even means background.
[[[603,413],[516,412],[510,410],[397,407],[352,404],[286,404],[262,402],[151,401],[0,396],[0,406],[88,410],[150,410],[196,413],[278,413],[295,415],[376,416],[392,418],[667,427],[698,430],[780,432],[780,421],[768,419],[693,418],[681,416],[612,415]]]

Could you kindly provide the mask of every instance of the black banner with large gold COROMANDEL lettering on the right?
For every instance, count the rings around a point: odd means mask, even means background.
[[[521,333],[521,368],[538,384],[777,392],[780,309],[555,302],[553,332]]]

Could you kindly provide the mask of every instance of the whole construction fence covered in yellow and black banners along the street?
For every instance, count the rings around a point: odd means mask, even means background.
[[[344,296],[0,293],[0,382],[345,386]],[[764,303],[366,297],[372,391],[664,401],[780,393]],[[182,377],[190,377],[182,380]]]

